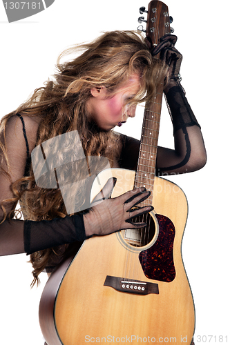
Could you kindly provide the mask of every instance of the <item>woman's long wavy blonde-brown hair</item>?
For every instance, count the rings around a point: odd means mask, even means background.
[[[72,59],[61,62],[68,55]],[[85,155],[102,155],[113,166],[121,149],[119,135],[113,130],[99,130],[92,124],[86,103],[92,97],[91,88],[104,86],[113,96],[133,73],[140,75],[141,80],[140,91],[131,100],[131,103],[137,104],[153,99],[157,86],[164,81],[166,68],[160,60],[151,56],[142,35],[131,31],[105,32],[91,43],[65,50],[57,60],[57,72],[52,80],[35,90],[32,97],[17,110],[3,117],[1,130],[4,132],[8,119],[16,114],[39,117],[37,145],[65,132],[77,130]],[[5,152],[7,163],[6,148],[1,149]],[[4,173],[8,174],[7,171]],[[20,201],[24,219],[41,221],[66,216],[60,191],[39,188],[32,167],[28,177],[12,184],[12,190],[15,197],[10,202],[16,205]],[[2,208],[5,209],[3,205]],[[4,219],[16,217],[16,213],[15,208],[8,215],[5,210]],[[32,286],[39,282],[39,273],[55,253],[57,248],[39,250],[30,255],[34,268]]]

